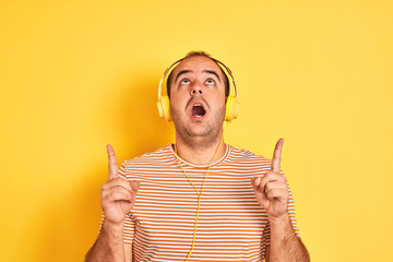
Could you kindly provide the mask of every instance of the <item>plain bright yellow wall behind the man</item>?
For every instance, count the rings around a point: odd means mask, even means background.
[[[1,1],[1,261],[82,261],[119,163],[170,142],[163,71],[234,71],[226,141],[282,167],[313,261],[393,261],[392,1]]]

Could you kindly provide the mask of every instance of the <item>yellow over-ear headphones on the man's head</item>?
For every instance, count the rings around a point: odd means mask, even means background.
[[[182,58],[176,62],[174,62],[169,68],[167,68],[164,72],[163,78],[159,81],[158,85],[158,114],[160,118],[164,118],[166,121],[171,121],[170,116],[170,105],[169,105],[169,97],[168,95],[162,95],[163,88],[167,90],[167,80],[170,73],[174,71],[176,66],[178,66],[182,60],[186,58]],[[226,100],[226,111],[225,111],[225,121],[230,122],[235,118],[237,118],[238,111],[239,111],[239,102],[237,99],[237,90],[235,84],[234,75],[231,74],[231,71],[228,67],[226,67],[223,62],[218,61],[217,59],[211,58],[214,62],[218,64],[218,67],[223,70],[225,75],[228,79],[229,82],[229,95]],[[231,80],[231,81],[230,81]]]

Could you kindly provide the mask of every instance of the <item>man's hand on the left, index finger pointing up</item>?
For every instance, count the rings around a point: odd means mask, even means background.
[[[109,175],[108,181],[102,187],[102,206],[105,219],[114,225],[122,225],[126,215],[131,211],[136,192],[138,181],[130,183],[118,175],[117,159],[111,145],[107,145]]]

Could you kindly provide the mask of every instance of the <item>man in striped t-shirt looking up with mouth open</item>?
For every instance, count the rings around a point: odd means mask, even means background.
[[[272,160],[224,143],[229,79],[190,52],[168,76],[176,146],[124,162],[107,146],[105,218],[86,261],[309,261],[291,193]],[[169,119],[168,119],[169,120]]]

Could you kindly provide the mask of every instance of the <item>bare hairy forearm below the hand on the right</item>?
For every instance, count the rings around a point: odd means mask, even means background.
[[[270,262],[309,262],[310,255],[295,234],[289,216],[270,219],[271,250]]]

